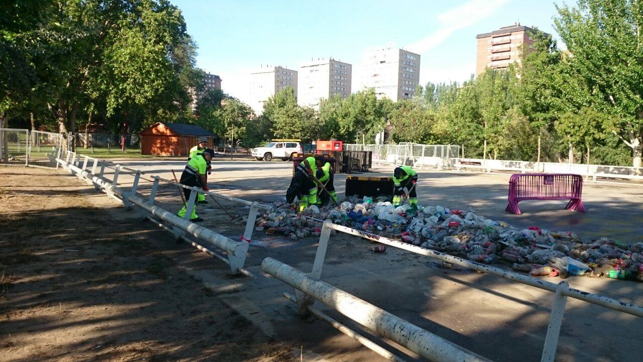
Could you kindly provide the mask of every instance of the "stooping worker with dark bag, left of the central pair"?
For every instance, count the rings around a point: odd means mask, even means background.
[[[299,211],[309,204],[317,204],[317,185],[320,180],[316,177],[317,168],[323,165],[323,156],[306,157],[294,171],[290,187],[286,191],[286,201],[291,203],[295,196],[299,198]]]

